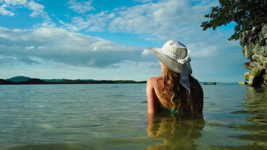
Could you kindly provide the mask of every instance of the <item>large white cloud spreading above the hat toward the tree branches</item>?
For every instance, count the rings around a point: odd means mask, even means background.
[[[64,23],[62,27],[71,31],[85,29],[86,31],[126,32],[137,34],[145,40],[161,43],[176,39],[187,45],[192,57],[208,57],[218,54],[220,49],[225,48],[220,45],[228,43],[224,32],[215,34],[210,30],[203,31],[199,26],[202,21],[206,20],[204,14],[210,11],[210,6],[216,4],[215,0],[197,2],[195,0],[164,0],[156,3],[148,0],[144,4],[132,7],[75,16],[72,17],[71,23]],[[222,37],[225,40],[221,40]],[[152,54],[152,51],[144,49],[141,56]]]

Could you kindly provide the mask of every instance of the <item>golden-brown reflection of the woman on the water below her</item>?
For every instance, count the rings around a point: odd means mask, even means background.
[[[201,137],[205,126],[203,118],[191,115],[172,116],[148,114],[147,135],[163,138],[164,145],[151,145],[148,149],[195,149],[193,139]]]

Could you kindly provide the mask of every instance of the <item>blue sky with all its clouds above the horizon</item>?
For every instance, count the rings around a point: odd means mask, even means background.
[[[234,24],[200,27],[218,0],[0,0],[0,78],[147,80],[149,47],[178,40],[200,82],[238,82],[248,62]]]

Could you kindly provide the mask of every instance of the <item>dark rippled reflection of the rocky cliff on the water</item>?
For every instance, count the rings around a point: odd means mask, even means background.
[[[267,148],[267,88],[244,86],[245,99],[243,110],[232,113],[246,113],[246,124],[239,124],[238,128],[250,131],[250,134],[238,135],[243,140],[252,142],[246,148],[265,149]]]

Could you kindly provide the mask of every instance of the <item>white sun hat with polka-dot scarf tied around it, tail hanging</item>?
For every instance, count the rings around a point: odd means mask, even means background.
[[[180,83],[190,92],[189,74],[192,73],[190,50],[176,40],[167,41],[162,48],[149,47],[149,49],[154,51],[159,60],[169,69],[180,73]]]

